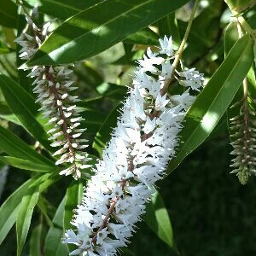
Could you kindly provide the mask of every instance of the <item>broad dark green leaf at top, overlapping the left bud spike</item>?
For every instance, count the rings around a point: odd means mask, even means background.
[[[27,63],[31,66],[54,65],[84,60],[119,43],[187,2],[103,1],[66,20]]]

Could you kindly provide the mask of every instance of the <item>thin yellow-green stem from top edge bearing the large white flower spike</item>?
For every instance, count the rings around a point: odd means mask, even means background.
[[[161,95],[162,96],[166,94],[166,91],[168,90],[168,87],[171,84],[172,79],[174,78],[174,74],[175,74],[175,70],[177,68],[177,64],[178,64],[178,62],[180,61],[180,59],[182,57],[183,49],[184,49],[184,47],[187,43],[187,39],[189,37],[189,32],[190,32],[190,29],[191,29],[191,26],[192,26],[192,22],[194,20],[195,11],[197,9],[198,3],[199,3],[199,0],[195,0],[194,7],[192,9],[192,12],[191,12],[191,15],[190,15],[190,18],[189,18],[189,23],[188,23],[188,26],[186,28],[186,32],[185,32],[184,37],[183,37],[183,41],[181,42],[181,44],[180,44],[180,46],[177,50],[177,54],[176,54],[175,59],[174,59],[173,64],[172,64],[173,69],[172,69],[172,73],[170,75],[170,79],[166,80],[166,83],[165,83],[164,87],[161,90]]]

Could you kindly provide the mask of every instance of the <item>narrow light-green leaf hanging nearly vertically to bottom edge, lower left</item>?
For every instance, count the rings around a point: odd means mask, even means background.
[[[26,236],[31,224],[32,213],[38,202],[39,189],[38,187],[31,188],[27,191],[27,195],[22,197],[19,207],[19,213],[16,221],[17,234],[17,256],[20,256]]]

